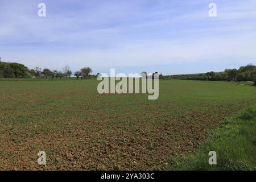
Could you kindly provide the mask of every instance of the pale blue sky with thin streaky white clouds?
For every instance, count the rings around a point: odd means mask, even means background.
[[[0,57],[94,74],[239,68],[256,64],[256,0],[0,0]]]

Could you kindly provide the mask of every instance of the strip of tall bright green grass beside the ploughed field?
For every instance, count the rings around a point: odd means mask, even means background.
[[[216,165],[208,163],[209,151],[216,151]],[[177,156],[168,164],[170,170],[255,170],[256,106],[224,119],[195,154]]]

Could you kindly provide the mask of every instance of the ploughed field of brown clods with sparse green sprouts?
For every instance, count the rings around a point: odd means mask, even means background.
[[[148,94],[98,94],[97,80],[0,80],[0,169],[166,169],[256,88],[160,80]],[[46,151],[46,166],[38,152]]]

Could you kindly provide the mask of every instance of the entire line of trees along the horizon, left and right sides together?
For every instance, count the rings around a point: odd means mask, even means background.
[[[25,65],[19,63],[3,62],[0,59],[0,78],[71,78],[72,75],[77,79],[90,77],[92,69],[89,67],[81,68],[80,71],[72,72],[71,68],[67,65],[62,71],[56,69],[41,69],[36,67],[34,69],[28,69]],[[146,75],[147,72],[142,72]],[[141,73],[141,74],[142,74]],[[154,78],[154,74],[152,74]],[[97,76],[99,73],[97,74]],[[256,86],[256,66],[253,64],[247,64],[239,69],[225,69],[224,72],[207,72],[201,74],[190,75],[159,75],[159,79],[180,79],[180,80],[210,80],[210,81],[254,81]]]

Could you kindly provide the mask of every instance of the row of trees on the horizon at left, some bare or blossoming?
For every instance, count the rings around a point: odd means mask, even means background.
[[[0,61],[0,78],[71,78],[72,75],[77,79],[90,77],[92,69],[89,67],[81,68],[80,71],[72,72],[71,68],[67,65],[62,71],[57,69],[41,69],[35,67],[34,69],[28,69],[25,65],[19,63],[9,63]]]

